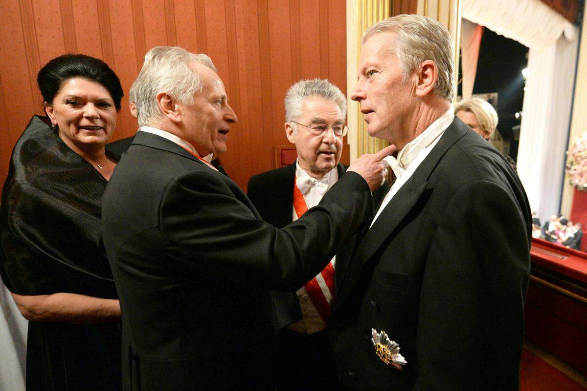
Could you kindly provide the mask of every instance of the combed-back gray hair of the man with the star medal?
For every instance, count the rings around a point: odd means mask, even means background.
[[[453,100],[453,41],[440,22],[420,15],[392,16],[368,28],[361,43],[365,44],[367,39],[382,32],[397,33],[393,47],[389,49],[402,64],[403,83],[423,61],[432,60],[438,67],[434,94]]]

